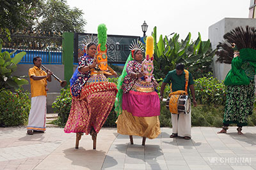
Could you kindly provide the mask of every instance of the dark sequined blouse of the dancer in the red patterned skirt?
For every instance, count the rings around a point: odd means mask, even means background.
[[[80,70],[82,67],[89,66],[93,63],[93,57],[90,57],[89,55],[81,56],[78,59],[78,70]],[[79,96],[81,90],[83,89],[86,81],[88,78],[90,78],[91,71],[86,72],[79,72],[77,74],[77,79],[75,83],[71,86],[70,91],[72,93],[72,96]]]

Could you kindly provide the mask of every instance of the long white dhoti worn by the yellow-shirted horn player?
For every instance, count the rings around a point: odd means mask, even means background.
[[[27,130],[46,130],[46,96],[31,97]]]

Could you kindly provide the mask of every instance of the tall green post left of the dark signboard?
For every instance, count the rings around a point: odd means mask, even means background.
[[[69,80],[73,74],[73,52],[74,52],[74,32],[63,32],[63,64],[64,64],[64,79]]]

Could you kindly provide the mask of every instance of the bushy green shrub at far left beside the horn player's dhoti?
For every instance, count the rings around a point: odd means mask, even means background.
[[[25,125],[31,106],[29,93],[23,89],[0,90],[0,127]]]

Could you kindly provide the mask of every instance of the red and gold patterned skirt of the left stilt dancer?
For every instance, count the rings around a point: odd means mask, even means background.
[[[79,97],[72,97],[64,131],[89,134],[93,127],[98,133],[113,108],[116,92],[115,83],[99,82],[85,85]]]

